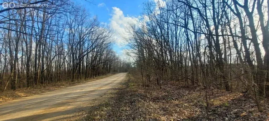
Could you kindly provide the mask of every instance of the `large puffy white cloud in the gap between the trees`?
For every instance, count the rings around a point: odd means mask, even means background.
[[[112,17],[109,19],[110,26],[115,30],[115,40],[121,47],[126,44],[124,38],[128,38],[126,27],[128,27],[130,23],[137,23],[138,17],[125,16],[122,10],[117,7],[112,7],[112,11]]]

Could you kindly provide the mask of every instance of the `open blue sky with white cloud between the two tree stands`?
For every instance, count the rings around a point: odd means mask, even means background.
[[[124,42],[121,38],[124,27],[128,22],[136,20],[143,9],[143,2],[147,0],[73,0],[76,4],[84,6],[91,16],[97,15],[100,22],[111,26],[115,32],[117,44],[114,50],[122,55]],[[121,33],[121,34],[119,34]]]

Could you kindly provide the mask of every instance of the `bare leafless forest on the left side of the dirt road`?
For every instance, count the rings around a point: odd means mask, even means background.
[[[68,0],[13,2],[44,6],[0,10],[1,91],[128,71],[112,49],[112,29],[83,7]]]

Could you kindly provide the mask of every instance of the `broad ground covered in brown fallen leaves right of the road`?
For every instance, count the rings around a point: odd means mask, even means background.
[[[92,103],[84,120],[267,120],[269,104],[261,102],[258,112],[250,97],[222,90],[208,90],[208,115],[205,91],[179,87],[173,83],[161,89],[141,87],[129,81],[108,99]]]

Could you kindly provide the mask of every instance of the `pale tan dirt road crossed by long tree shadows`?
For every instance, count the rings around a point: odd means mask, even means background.
[[[80,111],[92,99],[104,95],[120,82],[127,73],[119,73],[89,83],[46,92],[0,104],[0,121],[65,120]]]

